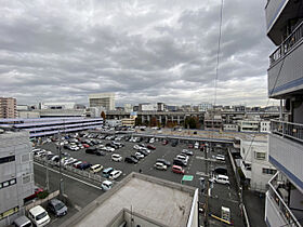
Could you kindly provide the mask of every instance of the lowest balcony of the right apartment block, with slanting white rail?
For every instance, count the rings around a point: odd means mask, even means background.
[[[288,186],[276,173],[269,181],[269,189],[266,192],[265,221],[268,226],[301,227],[301,223],[287,205],[289,200]],[[301,219],[302,222],[302,219]]]

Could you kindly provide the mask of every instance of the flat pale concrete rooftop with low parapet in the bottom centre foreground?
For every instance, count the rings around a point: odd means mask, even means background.
[[[63,227],[198,227],[198,189],[131,173]]]

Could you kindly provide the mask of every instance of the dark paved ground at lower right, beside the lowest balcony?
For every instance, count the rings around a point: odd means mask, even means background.
[[[265,195],[254,191],[243,190],[243,203],[247,209],[250,226],[267,227],[264,221]]]

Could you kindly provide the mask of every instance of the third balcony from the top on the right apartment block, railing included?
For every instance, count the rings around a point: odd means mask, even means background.
[[[272,121],[269,161],[303,193],[303,124]]]

